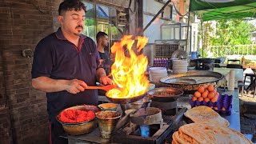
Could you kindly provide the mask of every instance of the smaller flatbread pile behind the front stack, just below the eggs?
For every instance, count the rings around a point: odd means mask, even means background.
[[[184,114],[187,118],[190,118],[193,122],[211,123],[222,126],[230,126],[225,118],[222,118],[216,111],[212,110],[208,106],[197,106],[190,110],[187,110]]]

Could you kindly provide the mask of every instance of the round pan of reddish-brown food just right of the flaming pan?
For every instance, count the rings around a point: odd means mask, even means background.
[[[172,87],[160,87],[147,92],[147,96],[154,102],[174,102],[180,98],[182,94],[182,90]]]

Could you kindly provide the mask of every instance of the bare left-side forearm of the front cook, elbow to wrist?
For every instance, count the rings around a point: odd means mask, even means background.
[[[32,79],[32,86],[35,89],[42,90],[44,92],[57,92],[66,90],[68,82],[68,80],[56,80],[48,77],[38,77]]]

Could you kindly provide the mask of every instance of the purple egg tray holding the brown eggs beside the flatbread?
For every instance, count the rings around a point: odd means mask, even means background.
[[[217,102],[199,102],[198,100],[190,100],[190,106],[208,106],[215,110],[218,114],[230,115],[232,110],[233,95],[219,94]]]

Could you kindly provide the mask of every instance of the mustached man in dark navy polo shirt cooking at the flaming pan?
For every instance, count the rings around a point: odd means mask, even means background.
[[[58,8],[61,27],[43,38],[34,50],[32,86],[46,92],[50,119],[50,143],[67,143],[56,116],[63,109],[82,104],[98,105],[98,91],[86,90],[96,82],[111,84],[102,67],[95,42],[82,34],[86,6],[79,0],[65,0]]]

